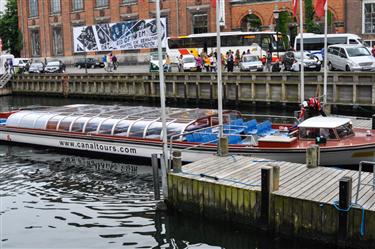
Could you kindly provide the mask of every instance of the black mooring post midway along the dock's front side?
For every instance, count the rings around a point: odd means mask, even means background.
[[[271,191],[273,189],[273,169],[263,167],[261,169],[261,202],[260,219],[262,225],[268,226],[270,220]]]

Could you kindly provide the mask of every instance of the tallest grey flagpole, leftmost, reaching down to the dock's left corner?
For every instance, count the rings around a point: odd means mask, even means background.
[[[163,195],[168,198],[167,187],[167,165],[168,165],[168,147],[167,147],[167,119],[165,112],[165,84],[164,84],[164,66],[161,48],[162,28],[160,24],[160,0],[155,1],[156,4],[156,28],[158,33],[158,59],[159,59],[159,82],[160,82],[160,106],[161,106],[161,122],[162,122],[162,136],[163,136],[163,156],[161,158],[161,173],[162,173],[162,188]]]

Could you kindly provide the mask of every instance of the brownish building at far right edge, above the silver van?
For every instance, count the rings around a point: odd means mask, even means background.
[[[346,25],[349,33],[360,35],[368,46],[375,45],[375,0],[350,0],[346,2]]]

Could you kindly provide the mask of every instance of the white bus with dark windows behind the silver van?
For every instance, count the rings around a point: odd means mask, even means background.
[[[294,41],[294,50],[300,50],[301,35],[298,34]],[[327,35],[327,44],[358,44],[362,45],[362,39],[358,35],[354,34],[328,34]],[[308,51],[311,54],[314,54],[323,60],[323,51],[324,48],[324,34],[313,34],[313,33],[304,33],[303,34],[303,49]]]

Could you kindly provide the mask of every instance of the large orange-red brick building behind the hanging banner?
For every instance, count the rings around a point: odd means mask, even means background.
[[[290,13],[291,0],[223,0],[224,31],[274,29],[275,6]],[[330,1],[333,32],[344,32],[345,1]],[[350,0],[354,1],[354,0]],[[367,0],[364,0],[367,1]],[[167,18],[168,36],[215,32],[216,10],[211,0],[163,0],[161,16]],[[75,26],[155,17],[154,0],[18,0],[19,27],[24,37],[24,57],[74,56]],[[294,26],[297,23],[294,23]]]

